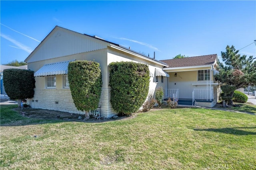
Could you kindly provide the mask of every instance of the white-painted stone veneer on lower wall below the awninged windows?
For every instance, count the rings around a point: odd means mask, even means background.
[[[28,99],[27,103],[33,108],[84,114],[84,111],[76,109],[70,89],[35,90],[34,98]],[[106,118],[117,114],[110,104],[110,89],[102,89],[99,106],[102,115]]]

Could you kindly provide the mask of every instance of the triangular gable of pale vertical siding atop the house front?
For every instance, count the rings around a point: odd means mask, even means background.
[[[107,43],[56,27],[27,59],[27,63],[107,48]]]

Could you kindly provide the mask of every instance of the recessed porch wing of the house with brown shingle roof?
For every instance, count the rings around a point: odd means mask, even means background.
[[[218,102],[219,84],[214,81],[217,55],[203,55],[181,59],[162,60],[170,75],[165,96],[178,91],[178,104],[213,107]]]

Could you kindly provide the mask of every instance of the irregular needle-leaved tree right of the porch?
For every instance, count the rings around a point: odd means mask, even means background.
[[[219,72],[215,75],[215,80],[221,84],[235,86],[236,89],[256,85],[256,61],[253,61],[252,56],[241,56],[238,52],[233,45],[227,45],[226,51],[221,52],[224,64],[218,61]],[[230,95],[233,93],[234,91]],[[232,99],[228,104],[234,106]]]

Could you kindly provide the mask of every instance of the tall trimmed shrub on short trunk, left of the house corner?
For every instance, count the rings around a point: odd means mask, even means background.
[[[76,108],[90,118],[100,102],[102,88],[100,64],[94,61],[72,61],[68,64],[68,82]]]

